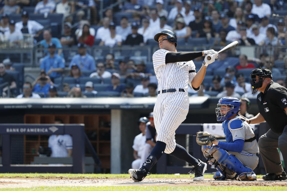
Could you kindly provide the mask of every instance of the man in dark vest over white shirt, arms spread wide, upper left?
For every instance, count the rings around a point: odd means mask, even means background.
[[[29,14],[26,11],[23,11],[21,16],[22,21],[19,21],[15,24],[16,30],[21,30],[23,34],[31,34],[35,38],[43,32],[44,28],[42,24],[39,24],[36,21],[29,20]]]

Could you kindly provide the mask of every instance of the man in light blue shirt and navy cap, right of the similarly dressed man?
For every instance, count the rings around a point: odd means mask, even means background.
[[[78,43],[78,53],[77,55],[73,56],[69,68],[75,63],[78,65],[80,70],[90,70],[95,71],[95,60],[94,58],[87,53],[86,44]]]

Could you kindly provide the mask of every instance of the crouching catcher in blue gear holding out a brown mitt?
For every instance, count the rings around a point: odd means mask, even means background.
[[[196,136],[204,157],[218,170],[213,175],[216,180],[256,180],[253,170],[258,164],[259,148],[253,130],[238,115],[239,105],[239,99],[233,97],[218,101],[216,116],[217,121],[223,121],[226,142],[218,141],[208,132],[198,132]]]

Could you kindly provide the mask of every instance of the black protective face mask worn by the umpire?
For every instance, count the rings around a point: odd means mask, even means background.
[[[250,78],[251,87],[253,89],[252,93],[254,94],[258,91],[259,87],[262,87],[265,78],[272,79],[272,74],[270,70],[259,67],[251,71]]]

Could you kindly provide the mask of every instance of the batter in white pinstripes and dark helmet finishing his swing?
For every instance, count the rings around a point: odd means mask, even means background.
[[[175,130],[185,120],[189,109],[188,84],[199,90],[208,64],[215,61],[218,53],[214,50],[203,52],[177,52],[177,37],[170,30],[161,30],[154,37],[160,49],[153,56],[153,66],[158,79],[158,97],[153,110],[155,129],[158,133],[156,144],[139,170],[129,169],[134,181],[142,181],[149,175],[163,153],[190,163],[194,169],[193,181],[204,179],[207,164],[191,156],[184,147],[175,143]],[[196,73],[193,59],[205,56],[200,70]],[[207,56],[211,59],[208,60]]]

